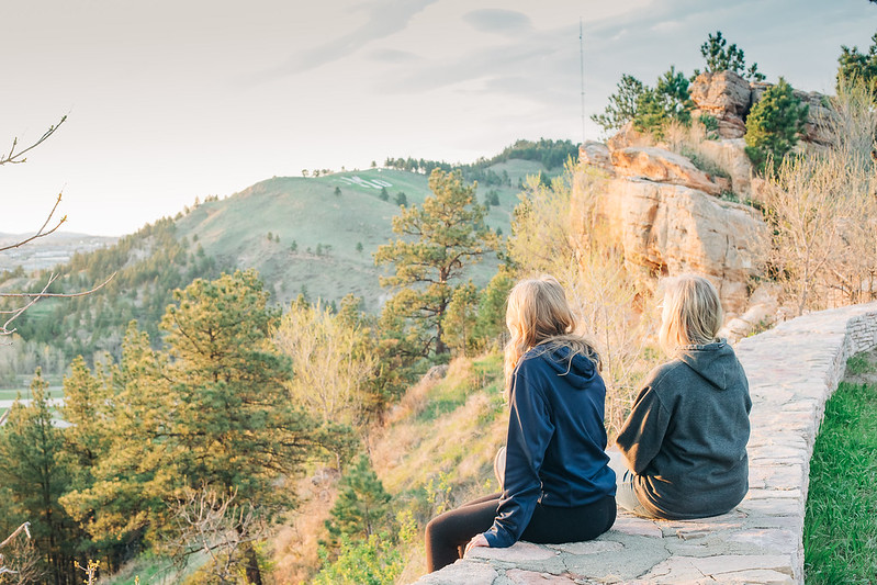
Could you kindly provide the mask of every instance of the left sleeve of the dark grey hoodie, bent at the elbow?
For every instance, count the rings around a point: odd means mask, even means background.
[[[670,410],[653,384],[640,391],[616,443],[634,473],[642,473],[661,450],[670,426]]]

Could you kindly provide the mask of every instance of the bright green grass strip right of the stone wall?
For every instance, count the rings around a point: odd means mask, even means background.
[[[877,581],[877,353],[856,356],[825,405],[810,460],[807,583]]]

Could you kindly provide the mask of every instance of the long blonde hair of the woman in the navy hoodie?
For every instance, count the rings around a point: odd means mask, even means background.
[[[511,378],[520,358],[537,346],[544,346],[546,351],[565,347],[570,349],[570,364],[573,357],[582,355],[597,369],[600,367],[594,346],[575,333],[575,316],[563,286],[554,277],[522,280],[511,289],[506,326],[511,335],[505,349],[506,396],[511,392]]]

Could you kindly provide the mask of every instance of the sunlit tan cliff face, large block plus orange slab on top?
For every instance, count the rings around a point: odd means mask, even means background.
[[[610,151],[587,143],[580,161],[609,175],[596,201],[596,222],[623,250],[629,270],[646,277],[705,274],[729,316],[743,313],[749,283],[764,272],[768,232],[756,210],[718,196],[739,179],[711,176],[661,147]],[[587,177],[578,175],[575,192],[583,191]]]

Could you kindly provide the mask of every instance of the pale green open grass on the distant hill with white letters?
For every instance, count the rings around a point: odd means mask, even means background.
[[[506,170],[513,187],[484,187],[484,193],[496,189],[499,206],[491,207],[487,224],[510,233],[511,211],[518,203],[518,180],[543,171],[538,162],[511,160],[496,165]],[[554,169],[551,175],[556,175]],[[367,184],[351,184],[358,178]],[[381,201],[380,188],[373,181],[390,183],[390,201]],[[341,190],[335,195],[335,188]],[[281,304],[302,292],[311,300],[338,301],[348,293],[361,296],[368,311],[376,311],[386,291],[379,284],[382,268],[375,267],[373,252],[392,234],[392,217],[398,214],[394,203],[403,191],[408,204],[420,205],[430,194],[427,177],[390,169],[339,172],[318,178],[278,177],[257,183],[222,201],[199,205],[177,222],[179,237],[194,236],[204,250],[228,259],[240,268],[255,267]],[[268,234],[280,236],[269,240]],[[291,246],[296,244],[296,250]],[[362,251],[357,250],[362,244]],[[317,246],[330,246],[328,254],[317,256]],[[308,252],[310,249],[310,252]],[[496,260],[487,259],[474,267],[471,277],[484,285],[496,271]]]

